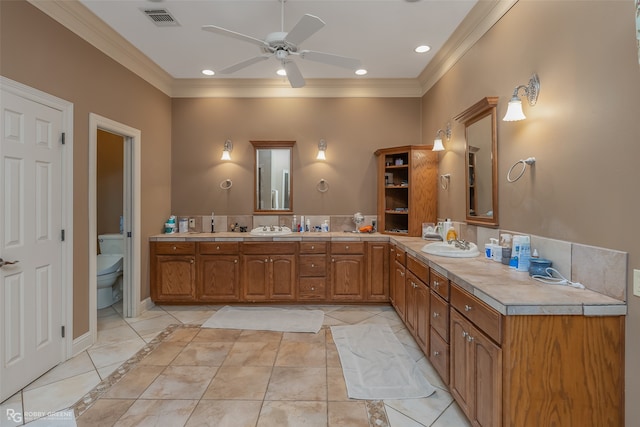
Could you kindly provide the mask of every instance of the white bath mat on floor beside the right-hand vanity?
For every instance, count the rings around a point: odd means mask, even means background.
[[[352,399],[413,399],[435,388],[388,325],[332,326]]]

